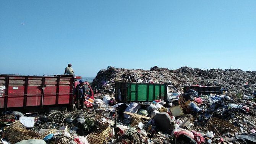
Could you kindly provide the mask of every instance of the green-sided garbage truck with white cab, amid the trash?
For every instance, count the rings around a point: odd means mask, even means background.
[[[180,95],[170,83],[115,83],[115,99],[118,102],[147,102],[173,99]]]

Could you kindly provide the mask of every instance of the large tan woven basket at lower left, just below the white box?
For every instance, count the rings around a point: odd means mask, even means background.
[[[40,136],[38,134],[27,130],[20,121],[15,121],[13,124],[11,124],[9,128],[4,131],[3,137],[12,144],[20,142],[22,140],[40,139]]]

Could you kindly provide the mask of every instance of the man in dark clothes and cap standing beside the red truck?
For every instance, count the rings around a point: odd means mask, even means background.
[[[84,108],[84,101],[85,101],[85,87],[84,87],[84,81],[80,80],[79,84],[76,86],[75,91],[75,104],[76,108],[78,110],[81,110]]]

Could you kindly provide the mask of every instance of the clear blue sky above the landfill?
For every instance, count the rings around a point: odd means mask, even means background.
[[[0,73],[256,70],[256,0],[1,0]]]

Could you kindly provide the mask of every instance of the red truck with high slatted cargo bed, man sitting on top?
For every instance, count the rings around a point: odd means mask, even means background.
[[[0,112],[17,110],[38,112],[51,110],[73,110],[75,86],[81,76],[44,75],[15,76],[0,75]],[[87,107],[92,107],[94,94],[89,83],[86,87]]]

